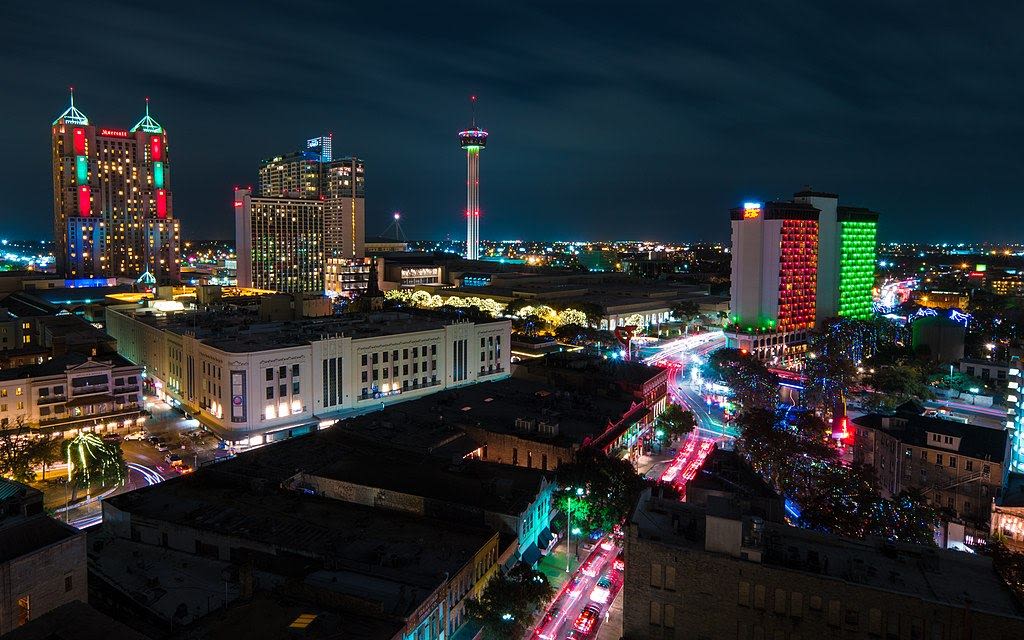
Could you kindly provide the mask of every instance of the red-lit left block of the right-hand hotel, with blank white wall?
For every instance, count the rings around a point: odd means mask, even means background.
[[[746,203],[731,211],[730,347],[787,365],[806,350],[817,297],[818,215],[807,203]]]

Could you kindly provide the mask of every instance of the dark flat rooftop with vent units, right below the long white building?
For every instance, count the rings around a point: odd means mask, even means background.
[[[597,387],[590,392],[565,391],[553,384],[513,377],[392,404],[345,420],[334,428],[359,431],[368,436],[373,434],[381,441],[398,446],[415,446],[425,432],[434,433],[431,440],[443,433],[457,435],[457,430],[463,427],[480,427],[569,446],[603,433],[609,421],[618,422],[633,402],[631,395],[615,389]],[[516,427],[519,419],[556,423],[558,434],[546,436],[522,431]]]

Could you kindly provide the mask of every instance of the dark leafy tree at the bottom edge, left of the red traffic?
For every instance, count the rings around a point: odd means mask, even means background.
[[[538,607],[554,595],[547,577],[524,562],[495,575],[479,599],[466,603],[466,613],[483,627],[483,637],[522,638]]]

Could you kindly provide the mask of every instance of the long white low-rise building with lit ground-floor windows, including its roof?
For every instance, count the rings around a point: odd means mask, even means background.
[[[268,323],[124,306],[108,308],[106,328],[155,392],[240,443],[510,373],[508,321],[378,312]]]

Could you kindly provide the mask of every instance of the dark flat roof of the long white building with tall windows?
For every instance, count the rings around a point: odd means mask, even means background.
[[[435,331],[456,322],[426,314],[396,311],[261,322],[255,308],[225,307],[213,311],[172,313],[164,313],[148,307],[127,307],[117,310],[165,331],[195,334],[205,344],[234,353],[300,346],[333,336],[360,340]]]

